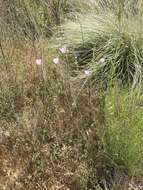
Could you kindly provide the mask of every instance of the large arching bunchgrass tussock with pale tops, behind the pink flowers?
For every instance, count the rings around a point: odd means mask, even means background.
[[[123,14],[119,20],[112,11],[104,15],[87,14],[64,26],[65,38],[67,43],[81,49],[83,55],[85,51],[83,62],[88,63],[100,80],[110,82],[116,78],[135,87],[142,80],[142,23],[139,15],[132,18]],[[91,59],[88,60],[84,48]],[[102,58],[104,64],[100,64]]]

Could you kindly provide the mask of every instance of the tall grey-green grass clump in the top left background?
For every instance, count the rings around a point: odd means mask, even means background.
[[[65,19],[73,19],[77,12],[89,9],[88,2],[73,0],[2,0],[1,29],[7,35],[16,35],[33,41],[37,38],[50,37]]]

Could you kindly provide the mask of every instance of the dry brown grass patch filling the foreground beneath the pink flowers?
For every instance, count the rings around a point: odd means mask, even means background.
[[[1,75],[1,188],[85,188],[88,131],[94,122],[88,90],[73,106],[79,87],[71,93],[65,66],[52,63],[56,51],[50,44],[42,52],[43,68],[35,65],[30,45],[3,46],[3,51],[9,62]]]

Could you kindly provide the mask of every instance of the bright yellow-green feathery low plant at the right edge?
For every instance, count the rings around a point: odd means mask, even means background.
[[[143,168],[143,96],[138,91],[112,89],[106,97],[105,149],[132,175]]]

